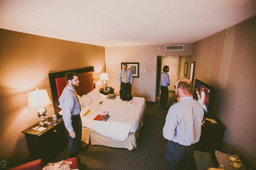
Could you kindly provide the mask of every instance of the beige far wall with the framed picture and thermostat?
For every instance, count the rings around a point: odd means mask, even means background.
[[[192,44],[185,44],[183,51],[165,51],[165,45],[105,47],[106,69],[110,79],[107,84],[114,87],[115,94],[119,95],[121,62],[139,62],[139,78],[133,78],[132,95],[155,102],[157,56],[191,55],[191,50]],[[140,69],[146,72],[141,73]]]

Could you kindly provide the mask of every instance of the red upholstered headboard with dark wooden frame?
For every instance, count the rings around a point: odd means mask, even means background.
[[[62,94],[63,89],[66,87],[66,80],[65,75],[68,72],[76,72],[79,74],[79,86],[76,87],[76,92],[79,96],[86,95],[87,93],[91,92],[95,88],[94,83],[94,67],[86,67],[80,68],[75,70],[67,70],[63,72],[57,73],[49,73],[49,80],[50,80],[50,88],[52,91],[52,98],[53,98],[53,105],[54,111],[57,115],[57,118],[60,118],[59,115],[60,108],[59,106],[59,97]]]

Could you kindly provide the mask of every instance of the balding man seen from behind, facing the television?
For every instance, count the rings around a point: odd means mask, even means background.
[[[201,136],[204,111],[192,97],[193,84],[181,79],[176,84],[176,95],[180,101],[172,105],[167,113],[163,135],[166,138],[165,170],[191,168],[194,143]]]

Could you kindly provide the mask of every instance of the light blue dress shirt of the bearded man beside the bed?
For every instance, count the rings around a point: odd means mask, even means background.
[[[76,115],[81,112],[78,99],[75,95],[75,89],[68,85],[64,88],[62,95],[59,97],[60,107],[62,108],[62,118],[66,129],[72,132],[71,115]]]

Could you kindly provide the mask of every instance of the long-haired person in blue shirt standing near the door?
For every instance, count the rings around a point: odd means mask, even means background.
[[[164,66],[163,73],[161,74],[161,96],[160,96],[160,106],[163,110],[168,110],[168,108],[165,107],[168,97],[169,97],[169,90],[168,86],[170,86],[170,79],[167,72],[169,72],[169,66]]]

